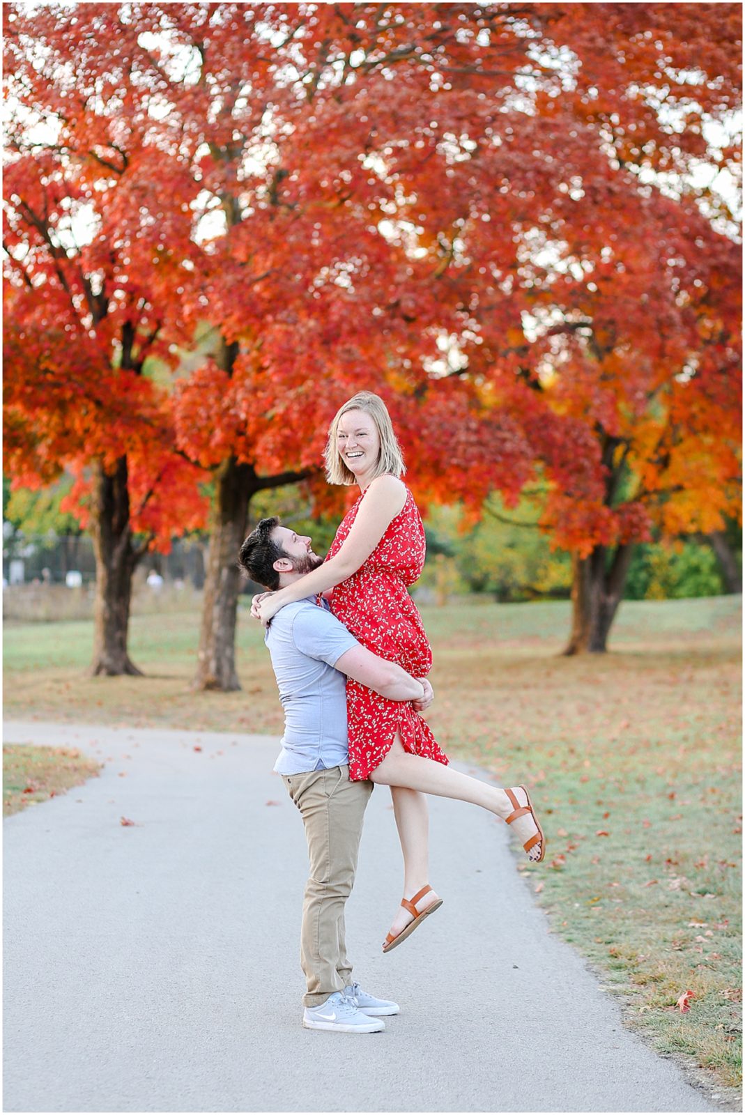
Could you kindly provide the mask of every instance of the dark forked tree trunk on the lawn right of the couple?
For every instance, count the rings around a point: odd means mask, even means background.
[[[596,546],[587,558],[572,555],[572,633],[565,655],[606,653],[632,553],[631,543],[618,546],[610,568],[604,546]]]

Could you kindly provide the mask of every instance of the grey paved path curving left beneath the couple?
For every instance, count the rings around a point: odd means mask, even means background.
[[[376,788],[347,939],[360,982],[401,1012],[380,1035],[316,1032],[300,1025],[304,838],[275,740],[37,723],[4,738],[106,764],[4,823],[4,1111],[717,1109],[623,1029],[487,814],[433,799],[445,904],[384,956],[400,853]]]

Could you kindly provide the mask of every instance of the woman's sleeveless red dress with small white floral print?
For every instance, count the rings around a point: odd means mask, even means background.
[[[339,526],[327,561],[341,549],[364,497]],[[407,488],[406,503],[370,556],[331,595],[333,614],[358,642],[416,678],[429,672],[432,648],[407,586],[420,576],[425,552],[422,517]],[[348,678],[347,716],[349,777],[354,782],[369,777],[390,750],[397,731],[407,752],[447,763],[426,721],[408,701],[388,700]]]

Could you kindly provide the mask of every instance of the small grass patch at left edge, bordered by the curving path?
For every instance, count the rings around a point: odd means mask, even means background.
[[[2,748],[2,815],[48,802],[94,777],[100,764],[75,748],[4,744]]]

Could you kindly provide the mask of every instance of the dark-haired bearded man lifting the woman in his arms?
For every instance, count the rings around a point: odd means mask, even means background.
[[[291,584],[320,565],[311,540],[262,518],[241,546],[239,564],[270,590]],[[432,687],[395,662],[373,655],[328,610],[309,597],[288,604],[271,621],[264,641],[284,708],[282,775],[306,827],[310,876],[306,885],[300,957],[307,980],[303,1026],[374,1034],[398,1006],[362,991],[351,978],[345,944],[345,904],[355,881],[357,853],[371,782],[350,782],[346,678],[390,700],[423,710]]]

